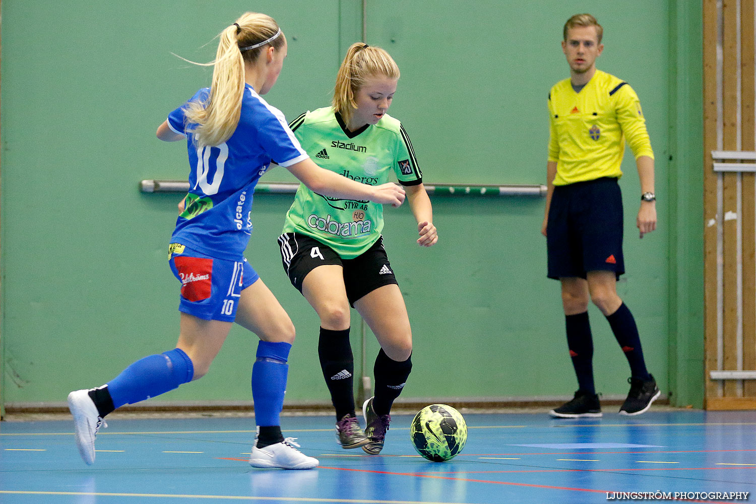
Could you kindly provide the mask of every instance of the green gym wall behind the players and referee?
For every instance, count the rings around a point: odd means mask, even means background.
[[[363,3],[365,11],[363,11]],[[627,274],[649,370],[671,404],[702,404],[700,2],[2,2],[2,394],[5,407],[63,404],[147,354],[173,348],[178,282],[167,244],[181,195],[142,179],[187,178],[185,146],[155,130],[209,85],[213,37],[243,11],[271,14],[289,55],[266,96],[293,119],[327,106],[361,39],[401,69],[401,119],[428,184],[545,184],[550,86],[569,76],[572,14],[603,24],[601,70],[640,96],[656,159],[658,230],[639,240],[640,189],[623,164]],[[262,182],[293,181],[281,168]],[[318,318],[287,280],[276,238],[291,194],[259,194],[246,257],[296,329],[287,404],[328,404]],[[401,400],[571,397],[559,283],[546,278],[541,197],[432,196],[439,241],[415,243],[409,207],[386,209],[386,248],[407,304],[414,368]],[[357,373],[361,323],[353,313]],[[597,389],[624,397],[627,363],[590,309]],[[368,331],[367,369],[378,350]],[[243,404],[256,336],[234,327],[209,374],[157,401]],[[670,395],[671,394],[671,395]]]

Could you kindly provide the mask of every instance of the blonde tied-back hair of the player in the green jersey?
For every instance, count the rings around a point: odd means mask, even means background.
[[[356,42],[346,51],[333,89],[333,110],[341,114],[347,124],[357,108],[355,94],[369,77],[398,79],[399,67],[383,49]]]

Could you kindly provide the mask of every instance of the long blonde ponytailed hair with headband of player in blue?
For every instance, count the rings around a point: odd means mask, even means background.
[[[231,138],[241,114],[245,62],[257,60],[266,45],[278,49],[286,40],[272,17],[257,12],[243,14],[218,37],[215,60],[204,63],[214,66],[209,96],[204,102],[190,102],[185,108],[187,124],[197,125],[193,131],[197,147],[222,144]],[[260,45],[260,42],[266,43]]]

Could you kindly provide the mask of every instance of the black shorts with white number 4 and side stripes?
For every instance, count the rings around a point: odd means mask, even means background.
[[[344,259],[330,246],[300,233],[283,233],[278,237],[283,269],[299,292],[307,274],[324,264],[338,264],[344,269],[344,286],[349,305],[378,287],[398,284],[383,248],[383,237],[361,255]]]

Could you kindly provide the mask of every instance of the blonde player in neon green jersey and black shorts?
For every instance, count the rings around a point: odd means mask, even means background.
[[[423,175],[407,132],[386,113],[398,79],[386,51],[356,43],[336,76],[333,107],[302,114],[291,127],[325,169],[370,186],[397,178],[417,220],[417,243],[429,247],[438,235]],[[372,455],[383,449],[389,412],[412,369],[410,322],[382,229],[380,205],[300,185],[278,239],[291,283],[321,320],[318,355],[336,409],[336,438],[345,449],[362,447]],[[364,432],[355,415],[350,305],[381,346],[373,368],[375,395],[362,407]]]

